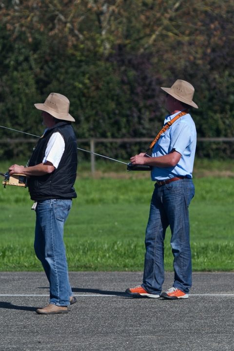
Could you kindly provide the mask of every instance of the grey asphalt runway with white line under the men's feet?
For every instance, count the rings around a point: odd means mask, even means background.
[[[173,273],[166,273],[164,291]],[[194,273],[186,300],[134,298],[142,273],[71,272],[78,302],[38,315],[49,302],[44,273],[0,273],[0,351],[234,350],[234,273]]]

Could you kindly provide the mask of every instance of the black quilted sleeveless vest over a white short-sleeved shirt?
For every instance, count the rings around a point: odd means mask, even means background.
[[[29,167],[42,163],[48,141],[56,132],[59,132],[64,139],[64,153],[58,168],[52,173],[44,176],[30,176],[28,190],[32,200],[43,201],[77,197],[74,189],[77,176],[77,141],[71,123],[59,122],[45,132],[35,147],[29,161]]]

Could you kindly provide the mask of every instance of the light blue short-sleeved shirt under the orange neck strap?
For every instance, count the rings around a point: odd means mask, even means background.
[[[168,115],[165,118],[164,125],[178,114],[179,112],[172,116]],[[153,181],[166,180],[176,176],[192,178],[196,149],[196,128],[190,114],[178,118],[160,136],[154,146],[152,157],[168,155],[173,149],[181,154],[179,162],[175,167],[153,167],[151,171]]]

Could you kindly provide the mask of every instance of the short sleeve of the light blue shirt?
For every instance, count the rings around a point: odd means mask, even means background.
[[[180,122],[172,131],[169,152],[175,149],[180,155],[183,155],[191,142],[192,131],[190,126],[185,122]]]

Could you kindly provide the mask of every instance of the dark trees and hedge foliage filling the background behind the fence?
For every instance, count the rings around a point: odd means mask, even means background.
[[[234,1],[8,0],[0,2],[0,125],[41,135],[34,103],[70,100],[78,138],[152,137],[180,78],[195,87],[200,137],[234,137]],[[0,138],[21,137],[0,128]],[[25,136],[26,137],[26,136]],[[129,157],[146,144],[98,144]],[[1,144],[28,156],[32,145]],[[233,157],[232,143],[198,143],[198,156]],[[85,156],[84,156],[85,157]]]

